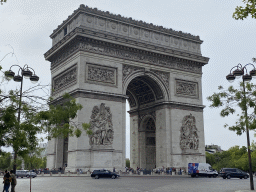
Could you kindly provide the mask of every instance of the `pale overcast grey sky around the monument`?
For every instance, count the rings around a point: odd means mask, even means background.
[[[251,63],[256,57],[256,20],[232,18],[235,7],[243,5],[242,0],[7,0],[0,5],[0,61],[12,51],[15,55],[9,54],[0,62],[3,70],[13,64],[28,64],[41,84],[49,84],[50,62],[43,56],[51,48],[49,35],[80,4],[200,36],[204,41],[202,55],[210,58],[202,76],[205,144],[219,145],[223,150],[246,146],[245,134],[237,136],[223,127],[225,123],[233,125],[236,117],[220,117],[221,109],[210,108],[206,100],[218,92],[219,85],[230,85],[226,75],[233,66]],[[238,84],[238,80],[233,83]],[[29,80],[24,86],[31,86]],[[19,89],[19,84],[10,82],[1,89],[10,87]],[[127,127],[128,123],[129,117]],[[256,140],[254,132],[250,132],[250,140]],[[127,138],[127,157],[129,152]]]

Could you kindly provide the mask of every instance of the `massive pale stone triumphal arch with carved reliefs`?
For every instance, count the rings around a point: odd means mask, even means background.
[[[52,139],[47,167],[123,169],[126,99],[131,167],[187,167],[205,162],[202,41],[80,5],[50,35],[52,96],[69,92],[83,105],[75,121],[93,135]]]

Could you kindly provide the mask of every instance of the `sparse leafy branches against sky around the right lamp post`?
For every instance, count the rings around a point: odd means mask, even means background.
[[[240,83],[239,89],[230,86],[227,90],[224,90],[222,86],[219,86],[219,93],[214,93],[212,96],[207,97],[211,101],[210,107],[223,108],[220,112],[222,117],[235,114],[237,107],[241,109],[241,113],[237,114],[238,120],[235,125],[224,125],[229,130],[236,132],[237,135],[245,132],[246,125],[249,130],[256,129],[256,120],[254,118],[256,114],[256,86],[252,83],[246,83],[245,87],[243,86],[243,82]],[[250,114],[247,114],[247,112],[250,112]]]

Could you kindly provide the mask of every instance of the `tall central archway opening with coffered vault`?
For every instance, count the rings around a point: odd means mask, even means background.
[[[155,104],[163,100],[163,91],[150,76],[138,76],[127,86],[126,153],[130,166],[152,170],[156,167],[156,116]]]

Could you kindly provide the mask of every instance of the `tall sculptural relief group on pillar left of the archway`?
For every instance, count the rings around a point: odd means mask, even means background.
[[[106,107],[105,103],[101,103],[100,107],[93,107],[90,125],[90,129],[93,132],[92,135],[89,135],[89,144],[91,146],[104,146],[113,143],[112,113],[110,107]]]

